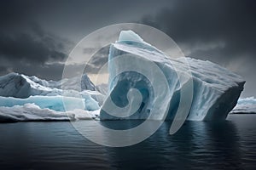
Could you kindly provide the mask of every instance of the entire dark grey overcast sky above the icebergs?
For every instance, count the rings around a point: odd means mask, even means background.
[[[166,32],[183,53],[207,59],[247,81],[256,96],[256,1],[1,1],[0,75],[10,71],[60,79],[63,62],[84,36],[137,22]]]

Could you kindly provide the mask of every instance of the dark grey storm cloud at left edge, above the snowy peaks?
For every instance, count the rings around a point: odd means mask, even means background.
[[[38,37],[25,32],[16,32],[12,35],[0,33],[0,55],[7,59],[40,64],[62,60],[66,54],[61,52],[59,45],[62,46],[61,42],[55,42],[54,37],[45,34]]]

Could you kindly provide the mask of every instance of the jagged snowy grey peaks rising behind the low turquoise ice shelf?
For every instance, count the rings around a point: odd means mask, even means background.
[[[79,82],[79,80],[81,80],[81,82]],[[35,76],[28,77],[13,72],[0,77],[0,96],[28,98],[31,95],[61,95],[62,85],[65,87],[65,90],[70,91],[70,94],[84,90],[95,90],[94,84],[90,82],[86,74],[84,74],[81,79],[79,79],[79,77],[73,77],[55,82],[42,80]]]

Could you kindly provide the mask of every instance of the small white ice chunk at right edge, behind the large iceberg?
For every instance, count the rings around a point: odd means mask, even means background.
[[[256,113],[256,99],[254,97],[238,99],[236,107],[231,114],[254,114]]]

